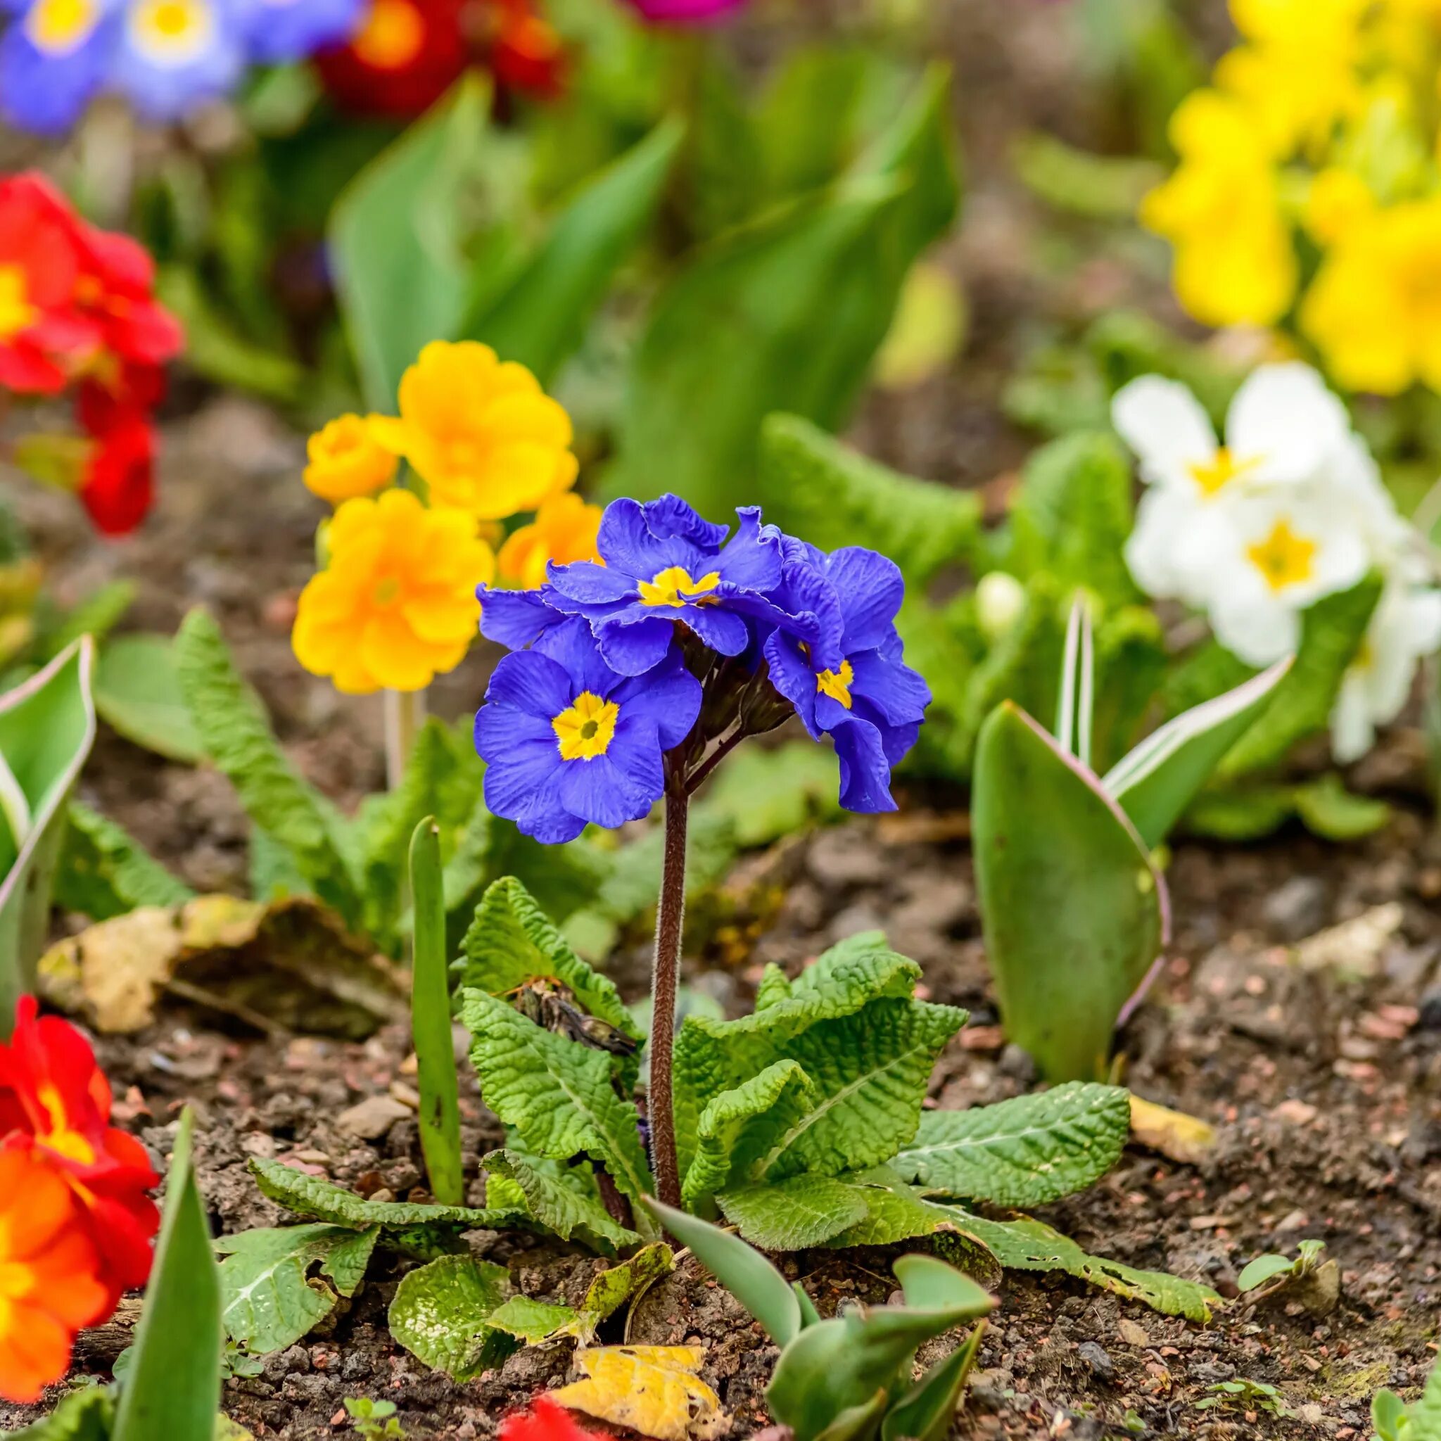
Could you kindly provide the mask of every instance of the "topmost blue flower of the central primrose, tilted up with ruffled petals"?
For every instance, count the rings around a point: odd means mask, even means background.
[[[552,565],[546,601],[584,615],[611,669],[643,676],[667,653],[674,623],[720,656],[752,643],[746,624],[808,631],[813,617],[784,612],[769,598],[782,578],[781,532],[761,525],[755,506],[736,510],[739,526],[702,520],[679,496],[605,507],[595,549],[604,565]]]

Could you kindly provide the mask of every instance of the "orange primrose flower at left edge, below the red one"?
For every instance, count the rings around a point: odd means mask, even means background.
[[[0,1148],[0,1396],[29,1404],[71,1365],[75,1333],[112,1310],[101,1257],[65,1176]]]

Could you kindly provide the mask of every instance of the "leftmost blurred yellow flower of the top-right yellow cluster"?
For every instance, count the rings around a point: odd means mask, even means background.
[[[1182,305],[1209,326],[1280,320],[1297,285],[1275,169],[1233,97],[1193,91],[1170,124],[1180,166],[1141,203],[1141,223],[1176,249]]]

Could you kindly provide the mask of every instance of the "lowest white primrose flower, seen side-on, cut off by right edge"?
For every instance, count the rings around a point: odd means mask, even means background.
[[[1441,648],[1441,591],[1392,581],[1331,708],[1331,751],[1343,765],[1376,744],[1376,728],[1401,715],[1425,656]]]

